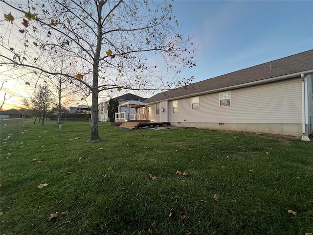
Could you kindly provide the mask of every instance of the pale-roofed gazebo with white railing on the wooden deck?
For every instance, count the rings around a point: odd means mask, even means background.
[[[141,101],[130,100],[118,105],[117,107],[118,113],[115,113],[115,119],[149,120],[149,105]],[[121,112],[122,107],[127,108],[127,111]],[[131,114],[132,108],[135,109],[135,114]]]

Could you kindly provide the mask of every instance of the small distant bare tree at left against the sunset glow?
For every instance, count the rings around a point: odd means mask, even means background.
[[[39,85],[37,92],[29,99],[23,100],[23,103],[29,111],[36,116],[36,119],[39,118],[42,120],[41,124],[44,125],[47,114],[53,108],[54,99],[47,85]]]

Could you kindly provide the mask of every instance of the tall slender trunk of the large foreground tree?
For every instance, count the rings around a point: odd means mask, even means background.
[[[91,104],[91,119],[90,119],[90,137],[89,141],[99,141],[99,132],[98,132],[98,76],[99,76],[99,60],[100,52],[102,46],[102,25],[101,25],[101,15],[102,7],[104,0],[99,2],[97,7],[98,11],[98,23],[97,23],[97,47],[95,50],[95,55],[93,59],[93,71],[92,71],[92,104]]]

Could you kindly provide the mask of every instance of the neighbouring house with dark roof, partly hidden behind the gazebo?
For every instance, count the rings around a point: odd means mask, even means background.
[[[136,101],[144,101],[146,100],[146,98],[143,98],[143,97],[140,97],[138,95],[135,95],[135,94],[130,94],[130,93],[127,93],[127,94],[123,94],[121,96],[118,96],[114,99],[117,99],[118,100],[118,103],[119,105],[125,103],[125,102],[128,102],[128,101],[131,101],[131,100],[136,100]],[[98,109],[99,109],[99,121],[108,121],[109,120],[109,117],[108,117],[108,106],[109,106],[109,101],[110,100],[106,100],[104,102],[101,102],[98,104]],[[127,108],[125,107],[122,107],[120,109],[119,112],[126,112],[127,111]],[[134,108],[132,108],[130,110],[130,113],[131,114],[135,114],[136,110]]]

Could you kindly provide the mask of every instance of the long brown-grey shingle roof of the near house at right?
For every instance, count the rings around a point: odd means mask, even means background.
[[[308,50],[244,70],[227,73],[222,76],[206,79],[201,82],[162,92],[146,99],[145,103],[153,103],[185,95],[214,91],[226,87],[309,70],[313,70],[313,50]]]

